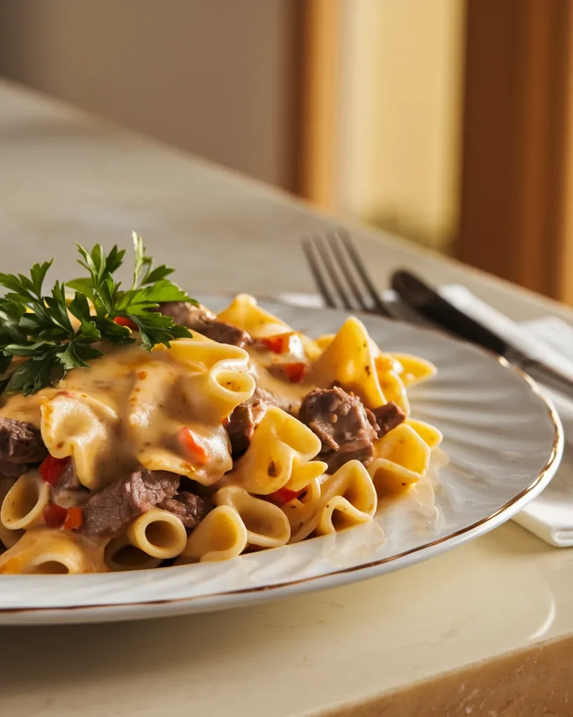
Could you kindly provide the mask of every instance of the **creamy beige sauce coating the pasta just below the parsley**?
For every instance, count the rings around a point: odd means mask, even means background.
[[[232,460],[220,414],[193,390],[199,373],[167,350],[111,348],[89,369],[69,371],[56,388],[7,397],[0,415],[41,428],[50,454],[73,455],[78,477],[92,490],[138,465],[210,485],[231,469]],[[183,427],[191,429],[207,462],[178,440]]]

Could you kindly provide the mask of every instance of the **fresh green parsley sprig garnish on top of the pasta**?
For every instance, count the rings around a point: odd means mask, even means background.
[[[186,327],[173,323],[173,318],[157,308],[164,301],[196,302],[167,278],[173,269],[153,268],[141,237],[135,232],[132,236],[135,267],[128,290],[122,290],[113,276],[125,255],[117,246],[105,255],[100,244],[91,251],[77,244],[82,257],[78,263],[88,276],[66,282],[65,286],[75,291],[71,301],[60,282],[54,284],[50,295],[42,294],[51,261],[34,264],[29,277],[0,273],[0,285],[8,289],[0,298],[0,374],[9,371],[14,356],[27,359],[0,381],[0,392],[28,396],[53,385],[70,369],[89,368],[88,361],[102,356],[92,346],[97,341],[120,346],[133,343],[132,332],[115,323],[117,317],[135,323],[142,348],[148,350],[157,343],[169,346],[174,338],[191,336]],[[72,325],[70,313],[78,326]]]

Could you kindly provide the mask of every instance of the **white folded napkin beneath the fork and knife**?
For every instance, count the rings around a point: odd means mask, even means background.
[[[460,285],[440,288],[440,293],[459,309],[500,333],[517,348],[538,356],[548,364],[573,376],[573,327],[557,316],[516,323],[503,313],[476,298]],[[314,294],[283,293],[277,297],[284,303],[307,308],[321,307],[322,299]],[[392,291],[384,293],[385,301],[395,301]],[[573,546],[573,402],[540,386],[559,413],[565,434],[565,450],[557,475],[541,495],[514,516],[514,521],[549,545],[557,548]]]

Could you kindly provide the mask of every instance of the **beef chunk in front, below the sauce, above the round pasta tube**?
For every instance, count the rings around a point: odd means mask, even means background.
[[[115,536],[143,513],[173,498],[179,476],[164,470],[140,468],[127,478],[116,480],[92,495],[84,507],[82,533],[87,536]]]

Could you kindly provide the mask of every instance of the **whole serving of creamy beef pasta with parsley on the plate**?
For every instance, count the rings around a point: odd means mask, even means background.
[[[313,339],[249,295],[211,313],[134,242],[130,290],[115,247],[80,247],[72,295],[42,295],[49,262],[0,275],[0,572],[230,559],[372,521],[423,478],[441,436],[408,389],[432,364],[357,318]]]

